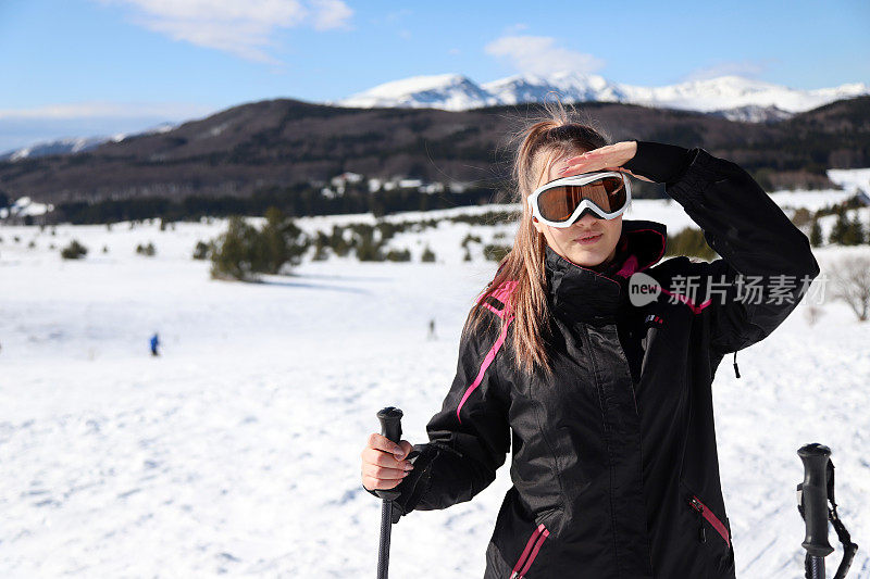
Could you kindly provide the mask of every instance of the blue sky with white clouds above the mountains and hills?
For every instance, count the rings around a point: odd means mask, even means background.
[[[336,100],[415,75],[870,83],[870,2],[718,4],[2,0],[0,151],[262,99]]]

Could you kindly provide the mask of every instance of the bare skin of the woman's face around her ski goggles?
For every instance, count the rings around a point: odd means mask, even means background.
[[[559,178],[556,172],[563,166],[564,159],[568,158],[556,159],[549,164],[547,175],[542,176],[538,186]],[[616,255],[622,234],[622,215],[613,219],[599,219],[586,213],[570,227],[550,227],[533,218],[532,225],[544,236],[552,251],[575,265],[593,267]]]

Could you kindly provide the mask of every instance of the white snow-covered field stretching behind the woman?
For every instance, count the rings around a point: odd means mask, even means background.
[[[663,201],[627,217],[691,223]],[[301,225],[343,219],[359,221]],[[430,244],[439,263],[332,260],[214,281],[190,254],[222,229],[0,226],[0,576],[374,575],[381,505],[360,486],[359,453],[386,405],[405,411],[403,438],[425,441],[494,264],[462,262],[472,228],[445,223],[394,239],[414,259]],[[72,238],[84,261],[58,255]],[[136,255],[149,241],[157,256]],[[861,251],[817,256],[824,267]],[[810,326],[807,303],[739,353],[739,379],[726,357],[713,383],[738,577],[803,577],[796,450],[811,441],[833,449],[841,516],[861,545],[850,577],[870,577],[870,326],[837,302]],[[506,465],[474,501],[403,517],[390,576],[481,577],[509,486]]]

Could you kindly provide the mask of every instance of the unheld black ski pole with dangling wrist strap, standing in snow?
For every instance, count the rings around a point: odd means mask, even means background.
[[[801,543],[807,550],[806,579],[824,579],[824,557],[834,552],[834,547],[828,542],[829,520],[843,543],[843,561],[840,562],[834,579],[843,579],[849,570],[858,545],[852,542],[849,532],[836,513],[831,449],[819,443],[806,444],[798,449],[797,455],[804,462],[804,482],[797,486],[797,509],[804,518],[807,531]],[[828,506],[829,501],[831,507]]]

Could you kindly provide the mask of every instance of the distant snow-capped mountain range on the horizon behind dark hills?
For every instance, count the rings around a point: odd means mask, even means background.
[[[332,102],[339,106],[433,108],[467,111],[494,104],[542,102],[551,91],[563,102],[623,102],[718,113],[732,119],[780,121],[829,102],[870,95],[870,87],[853,83],[833,88],[800,90],[721,76],[663,87],[639,87],[612,83],[599,75],[561,72],[550,76],[518,75],[483,85],[459,75],[415,76],[376,86]]]

